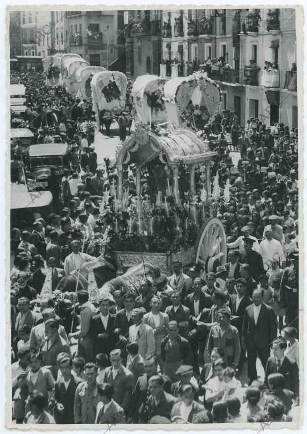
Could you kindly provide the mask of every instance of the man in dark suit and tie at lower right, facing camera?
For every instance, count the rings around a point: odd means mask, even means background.
[[[277,338],[273,342],[273,357],[269,357],[265,368],[265,380],[270,374],[282,374],[285,379],[285,389],[291,390],[295,395],[299,395],[299,369],[296,362],[290,361],[285,356],[287,342],[283,338]]]

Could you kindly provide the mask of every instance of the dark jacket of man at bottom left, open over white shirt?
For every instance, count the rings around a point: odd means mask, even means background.
[[[57,424],[74,424],[74,399],[77,385],[83,380],[79,377],[71,376],[67,390],[65,389],[63,377],[55,381],[54,398],[64,406],[64,412],[60,413],[56,405],[54,406],[54,419]]]

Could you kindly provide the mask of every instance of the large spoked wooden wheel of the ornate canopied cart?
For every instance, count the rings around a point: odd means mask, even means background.
[[[225,265],[227,260],[226,233],[222,222],[216,218],[208,218],[200,228],[195,243],[195,262],[205,270],[201,277],[205,277],[208,271],[216,271],[219,265]]]

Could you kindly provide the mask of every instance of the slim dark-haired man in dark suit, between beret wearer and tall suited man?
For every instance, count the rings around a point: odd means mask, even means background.
[[[229,309],[231,310],[231,325],[235,326],[239,331],[240,343],[242,341],[242,325],[245,309],[250,306],[253,301],[246,295],[246,280],[239,277],[236,280],[237,294],[231,295],[229,299]],[[241,351],[237,371],[242,371],[242,365],[245,357],[245,351]]]

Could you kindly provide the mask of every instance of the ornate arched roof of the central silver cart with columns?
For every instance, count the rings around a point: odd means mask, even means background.
[[[190,130],[177,130],[158,137],[137,126],[136,132],[117,148],[116,164],[144,163],[159,158],[161,163],[193,164],[211,160],[216,155],[208,145]]]

